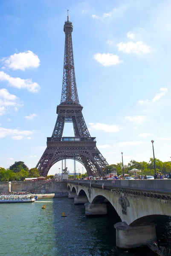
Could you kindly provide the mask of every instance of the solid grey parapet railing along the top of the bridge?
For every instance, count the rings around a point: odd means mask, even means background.
[[[107,188],[127,188],[138,189],[153,192],[167,192],[171,194],[171,180],[66,180],[68,183],[76,183],[80,185],[101,186]]]

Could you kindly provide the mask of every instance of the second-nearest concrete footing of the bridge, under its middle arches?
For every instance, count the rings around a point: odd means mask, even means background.
[[[107,214],[106,204],[91,204],[86,203],[85,205],[85,215],[104,215]]]

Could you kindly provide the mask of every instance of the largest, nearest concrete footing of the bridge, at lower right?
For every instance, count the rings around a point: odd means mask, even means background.
[[[116,228],[116,246],[122,249],[146,245],[147,241],[156,241],[156,224],[131,227],[124,222],[114,225]]]

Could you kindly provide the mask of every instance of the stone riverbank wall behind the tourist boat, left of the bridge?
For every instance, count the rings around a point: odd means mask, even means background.
[[[37,194],[67,195],[67,183],[62,181],[9,181],[0,182],[0,193],[2,192],[28,191]]]

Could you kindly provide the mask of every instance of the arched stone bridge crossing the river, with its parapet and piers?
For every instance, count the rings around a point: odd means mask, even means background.
[[[111,204],[121,222],[116,245],[128,249],[156,240],[156,215],[171,215],[171,180],[67,180],[69,198],[85,215],[107,214]]]

